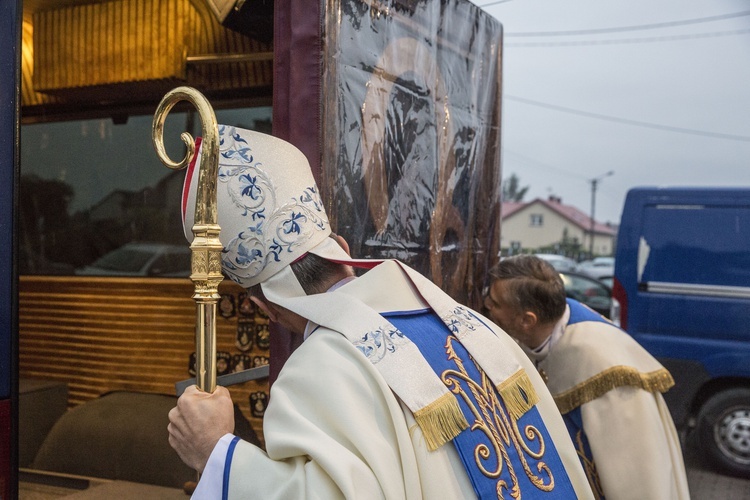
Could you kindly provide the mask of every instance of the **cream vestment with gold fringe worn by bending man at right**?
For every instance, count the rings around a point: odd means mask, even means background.
[[[611,323],[567,324],[570,308],[562,335],[538,368],[563,414],[580,408],[604,496],[690,498],[679,438],[661,395],[673,385],[671,376]]]

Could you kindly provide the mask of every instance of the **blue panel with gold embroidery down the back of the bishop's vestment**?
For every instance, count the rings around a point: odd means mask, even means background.
[[[478,498],[576,498],[536,407],[514,421],[497,388],[431,309],[383,317],[419,348],[456,395],[470,427],[453,444]]]

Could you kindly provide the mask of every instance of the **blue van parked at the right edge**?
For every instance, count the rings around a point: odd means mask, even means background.
[[[750,188],[635,188],[617,237],[620,326],[672,373],[678,428],[750,477]]]

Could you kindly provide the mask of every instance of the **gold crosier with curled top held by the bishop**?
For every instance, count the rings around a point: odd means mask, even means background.
[[[216,115],[203,94],[191,87],[177,87],[169,91],[159,103],[151,126],[151,138],[156,153],[164,165],[180,170],[195,156],[195,140],[187,133],[180,135],[187,153],[180,162],[173,162],[164,149],[164,121],[172,107],[189,101],[201,119],[201,166],[198,192],[195,198],[193,242],[190,244],[190,279],[195,285],[195,379],[205,392],[216,389],[216,304],[219,300],[221,274],[221,228],[216,210],[216,179],[219,162],[219,125]]]

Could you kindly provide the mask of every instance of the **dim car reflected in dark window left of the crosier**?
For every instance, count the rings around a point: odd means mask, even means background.
[[[76,269],[81,276],[190,276],[190,247],[166,243],[127,243],[92,264]]]

